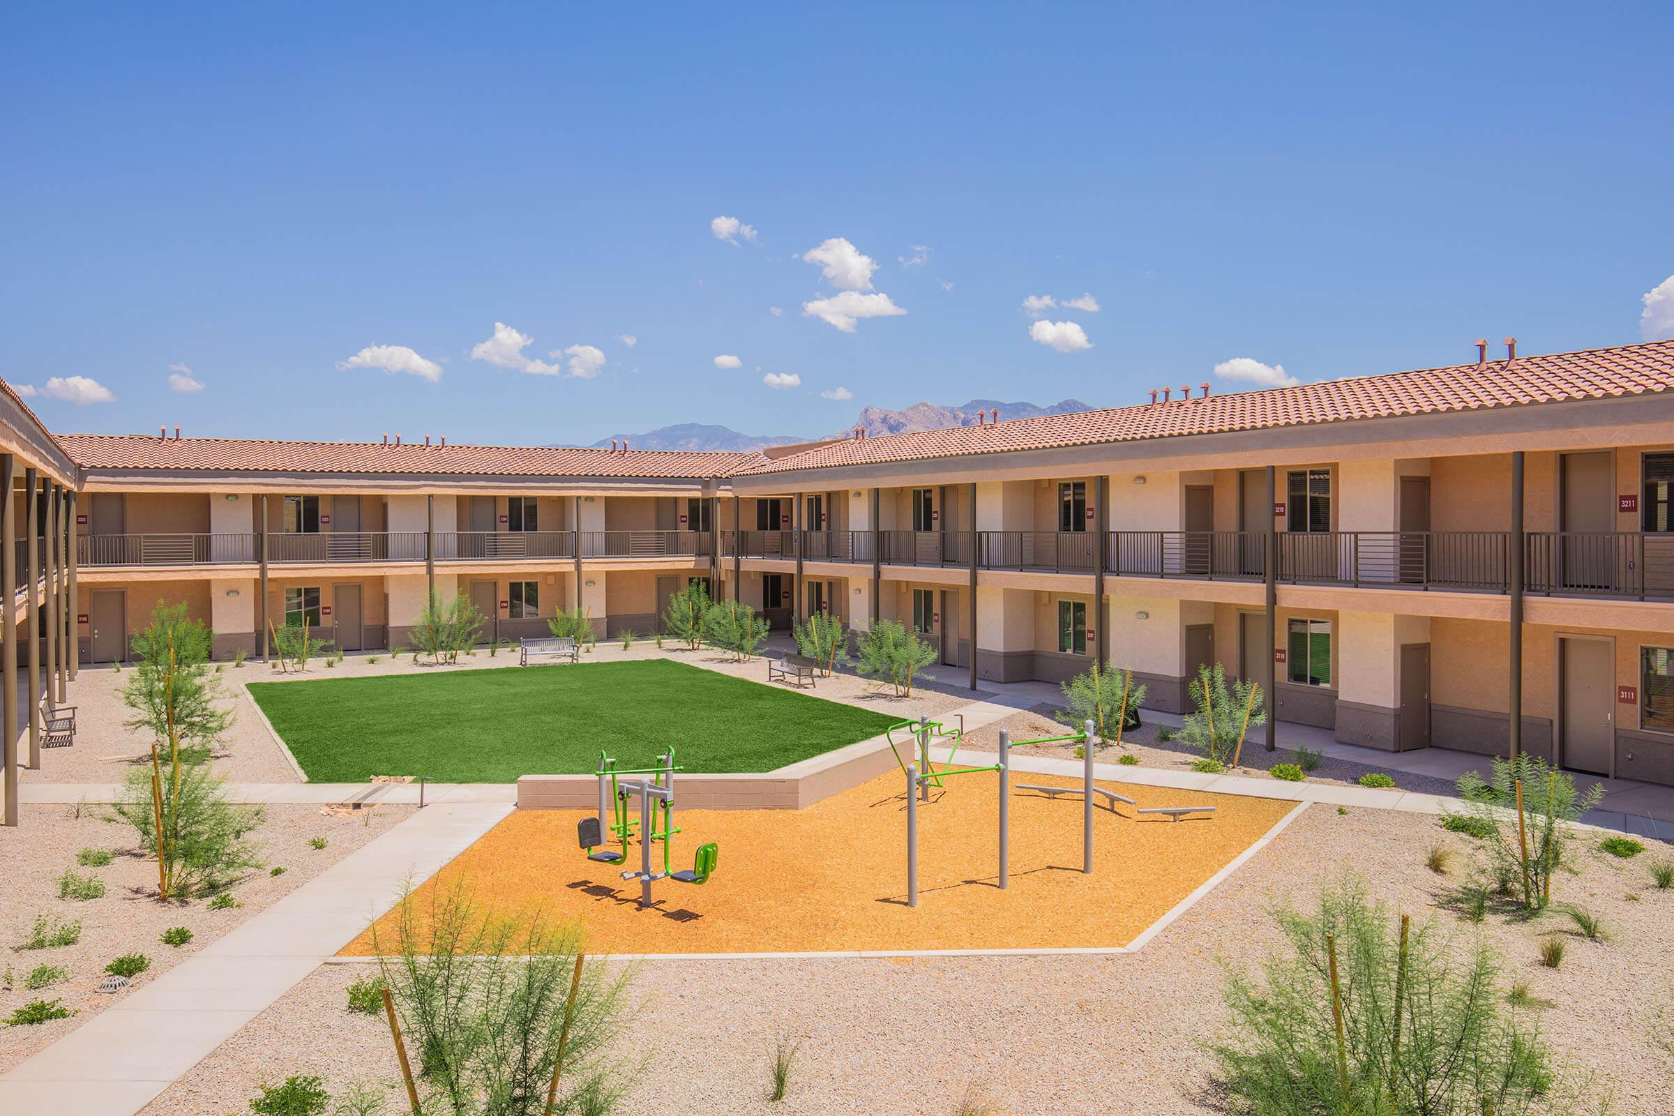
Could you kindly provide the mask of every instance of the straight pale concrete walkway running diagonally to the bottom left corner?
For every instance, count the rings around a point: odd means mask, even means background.
[[[507,813],[479,801],[413,813],[0,1076],[0,1113],[137,1113]]]

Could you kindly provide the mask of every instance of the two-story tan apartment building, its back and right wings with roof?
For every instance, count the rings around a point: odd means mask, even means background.
[[[899,619],[973,686],[1107,659],[1178,711],[1219,661],[1349,743],[1674,783],[1671,387],[1669,341],[1513,345],[763,453],[60,435],[60,642],[119,658],[169,599],[224,654],[400,648],[432,589],[501,637],[650,631],[703,577],[780,627]]]

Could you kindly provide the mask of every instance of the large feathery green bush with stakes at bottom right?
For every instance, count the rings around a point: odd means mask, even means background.
[[[1274,917],[1284,945],[1262,980],[1229,974],[1229,1031],[1209,1047],[1239,1111],[1513,1116],[1552,1099],[1545,1044],[1500,997],[1500,960],[1480,939],[1415,924],[1403,959],[1396,919],[1353,877],[1327,885],[1314,914]]]

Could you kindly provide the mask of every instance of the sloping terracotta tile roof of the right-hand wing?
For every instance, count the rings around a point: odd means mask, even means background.
[[[1294,388],[1237,392],[1075,415],[1016,418],[988,427],[842,440],[777,460],[743,463],[733,475],[1466,412],[1517,403],[1560,403],[1610,395],[1644,395],[1671,387],[1674,387],[1674,341],[1652,341],[1577,353],[1520,355],[1515,361],[1492,360],[1485,365],[1353,376]]]

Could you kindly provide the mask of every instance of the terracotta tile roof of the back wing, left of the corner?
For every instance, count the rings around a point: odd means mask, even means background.
[[[755,453],[539,448],[511,445],[383,445],[382,442],[268,442],[259,438],[159,438],[62,433],[59,442],[87,470],[211,470],[285,474],[407,474],[475,477],[725,477]]]

